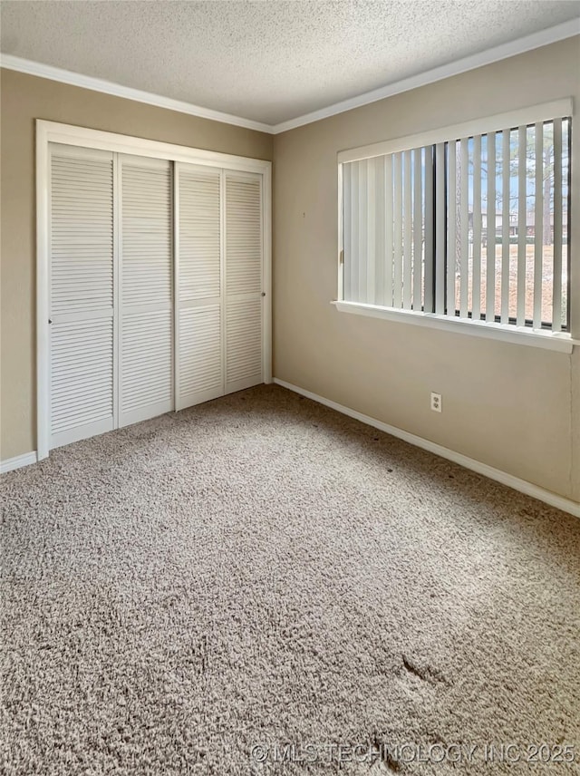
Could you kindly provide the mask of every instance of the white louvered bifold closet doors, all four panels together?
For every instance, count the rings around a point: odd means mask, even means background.
[[[264,176],[48,143],[49,448],[265,380]]]

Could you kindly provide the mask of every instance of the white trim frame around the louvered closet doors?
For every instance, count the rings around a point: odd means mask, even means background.
[[[36,450],[38,461],[49,453],[50,440],[50,337],[49,337],[49,143],[81,146],[152,157],[219,169],[256,172],[262,175],[264,296],[264,382],[272,383],[272,162],[234,156],[218,151],[188,148],[160,141],[92,130],[57,121],[36,120]],[[175,247],[174,247],[175,249]],[[175,260],[175,256],[174,256]]]

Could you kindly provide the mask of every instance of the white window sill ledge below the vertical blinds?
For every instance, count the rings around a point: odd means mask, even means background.
[[[429,326],[452,334],[486,337],[499,342],[543,347],[559,353],[570,354],[575,345],[580,345],[580,341],[573,339],[567,332],[552,334],[524,326],[472,321],[470,318],[448,318],[446,315],[436,315],[435,313],[413,313],[409,310],[393,310],[389,307],[362,305],[358,302],[335,301],[331,304],[341,313],[367,315],[399,324]]]

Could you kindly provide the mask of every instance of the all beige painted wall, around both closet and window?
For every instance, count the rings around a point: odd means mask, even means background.
[[[578,104],[579,40],[285,132],[274,149],[260,132],[2,71],[0,457],[35,449],[34,119],[42,118],[267,160],[274,150],[275,376],[580,501],[579,348],[556,354],[329,304],[337,151],[570,94]],[[572,239],[580,245],[580,218]],[[572,285],[580,337],[580,261]],[[440,415],[430,412],[430,391],[443,394]]]

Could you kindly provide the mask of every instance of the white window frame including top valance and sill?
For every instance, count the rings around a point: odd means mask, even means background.
[[[491,339],[501,340],[512,344],[526,344],[536,347],[547,348],[564,353],[571,353],[575,345],[580,344],[580,340],[573,338],[570,331],[553,332],[546,328],[532,328],[529,325],[521,326],[513,323],[504,324],[497,320],[485,321],[468,317],[460,317],[458,311],[455,315],[441,315],[440,313],[423,312],[419,310],[408,310],[399,307],[387,307],[369,305],[360,302],[349,302],[344,299],[343,284],[343,165],[348,162],[372,159],[373,157],[384,156],[393,153],[399,153],[404,150],[412,150],[424,146],[435,145],[441,142],[450,142],[454,138],[469,137],[472,135],[482,135],[491,132],[503,131],[507,127],[519,127],[523,124],[535,124],[541,121],[552,121],[557,117],[573,117],[573,100],[571,97],[563,98],[553,102],[545,102],[538,105],[532,105],[527,108],[521,108],[516,111],[497,113],[480,119],[464,121],[446,127],[434,130],[423,131],[414,135],[402,138],[395,138],[389,141],[372,143],[348,150],[341,150],[337,154],[338,168],[338,296],[333,300],[333,305],[340,312],[347,312],[358,315],[367,315],[375,318],[382,318],[391,322],[411,325],[427,325],[455,334],[483,336]],[[568,242],[567,242],[567,283],[568,283],[568,307],[567,321],[568,326],[571,323],[571,131],[568,133]]]

